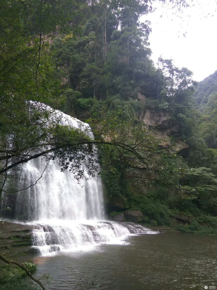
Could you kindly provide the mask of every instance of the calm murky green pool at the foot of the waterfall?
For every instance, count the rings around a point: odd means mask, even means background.
[[[49,290],[73,289],[81,273],[96,276],[100,290],[217,289],[216,237],[161,233],[130,236],[126,242],[35,262],[53,278]]]

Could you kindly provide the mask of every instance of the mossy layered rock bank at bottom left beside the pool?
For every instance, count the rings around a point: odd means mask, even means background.
[[[0,255],[7,260],[22,264],[30,273],[35,273],[34,263],[37,251],[32,248],[33,226],[8,221],[0,222]],[[35,290],[25,271],[14,264],[6,264],[0,260],[0,289],[1,290]]]

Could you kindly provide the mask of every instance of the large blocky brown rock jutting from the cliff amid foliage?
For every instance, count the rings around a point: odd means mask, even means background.
[[[146,125],[159,129],[169,129],[171,126],[171,115],[165,110],[147,110],[142,119]]]

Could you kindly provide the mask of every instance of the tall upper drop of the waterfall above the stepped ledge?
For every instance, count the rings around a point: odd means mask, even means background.
[[[52,110],[42,104],[46,110]],[[58,110],[55,116],[62,126],[70,126],[85,131],[93,138],[90,126]],[[81,180],[80,184],[69,170],[60,172],[58,161],[50,161],[46,166],[43,157],[33,159],[19,166],[14,184],[25,191],[16,195],[16,201],[10,201],[13,217],[17,220],[93,220],[104,219],[104,204],[101,179],[94,177]],[[45,170],[45,171],[44,171]],[[43,172],[44,171],[44,172]],[[7,198],[7,197],[5,197]],[[8,197],[10,199],[10,197]]]

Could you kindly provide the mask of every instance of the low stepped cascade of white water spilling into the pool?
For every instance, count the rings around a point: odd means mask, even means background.
[[[57,251],[83,251],[104,243],[121,244],[127,235],[157,233],[130,222],[41,220],[31,224],[35,226],[32,245],[41,255],[52,255]]]

